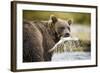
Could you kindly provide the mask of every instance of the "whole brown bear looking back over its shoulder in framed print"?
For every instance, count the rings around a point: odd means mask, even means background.
[[[48,21],[23,21],[23,62],[51,61],[51,48],[61,37],[70,36],[71,20],[54,15]]]

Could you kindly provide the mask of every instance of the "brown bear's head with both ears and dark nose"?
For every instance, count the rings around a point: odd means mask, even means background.
[[[70,25],[72,24],[72,20],[63,20],[59,19],[54,15],[50,16],[49,25],[50,28],[56,33],[58,38],[61,37],[70,37],[71,29]]]

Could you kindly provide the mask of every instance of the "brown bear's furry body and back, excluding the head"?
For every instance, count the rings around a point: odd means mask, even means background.
[[[23,62],[50,61],[48,51],[57,42],[56,34],[47,22],[24,21],[23,23]]]

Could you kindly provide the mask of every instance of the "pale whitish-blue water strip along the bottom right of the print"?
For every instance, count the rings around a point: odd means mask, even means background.
[[[90,52],[54,53],[52,57],[52,61],[89,60],[89,59],[91,59]]]

